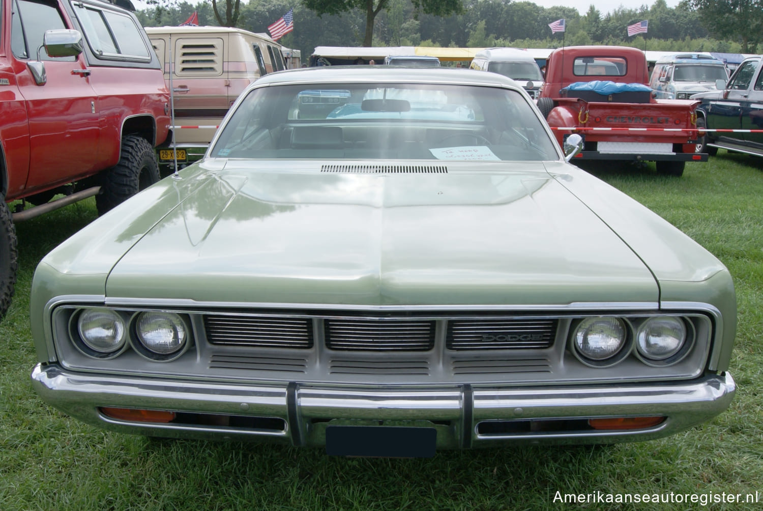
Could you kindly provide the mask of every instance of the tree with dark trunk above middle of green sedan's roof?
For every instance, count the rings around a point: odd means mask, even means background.
[[[228,0],[230,1],[230,0]],[[414,17],[419,13],[447,16],[463,11],[461,0],[411,0]],[[365,10],[365,37],[363,46],[371,46],[374,37],[374,22],[381,11],[390,8],[390,0],[303,0],[305,7],[322,15],[341,15],[353,9]]]

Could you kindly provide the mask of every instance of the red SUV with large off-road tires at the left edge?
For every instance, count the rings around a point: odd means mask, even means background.
[[[2,317],[16,279],[14,222],[94,195],[106,212],[159,180],[154,146],[168,135],[169,91],[130,11],[96,0],[0,2]]]

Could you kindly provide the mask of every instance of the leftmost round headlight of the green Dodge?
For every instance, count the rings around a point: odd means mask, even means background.
[[[77,332],[86,354],[109,357],[124,348],[127,328],[111,309],[85,309],[77,319]],[[82,348],[82,346],[80,346]]]

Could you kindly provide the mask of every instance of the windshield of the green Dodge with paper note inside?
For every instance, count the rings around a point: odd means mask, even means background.
[[[520,92],[489,86],[285,84],[250,90],[210,150],[253,159],[556,160]]]

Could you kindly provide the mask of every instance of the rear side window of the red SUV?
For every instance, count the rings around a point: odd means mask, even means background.
[[[151,60],[140,29],[132,18],[122,13],[73,3],[74,12],[85,38],[97,57],[119,57],[130,60]]]

